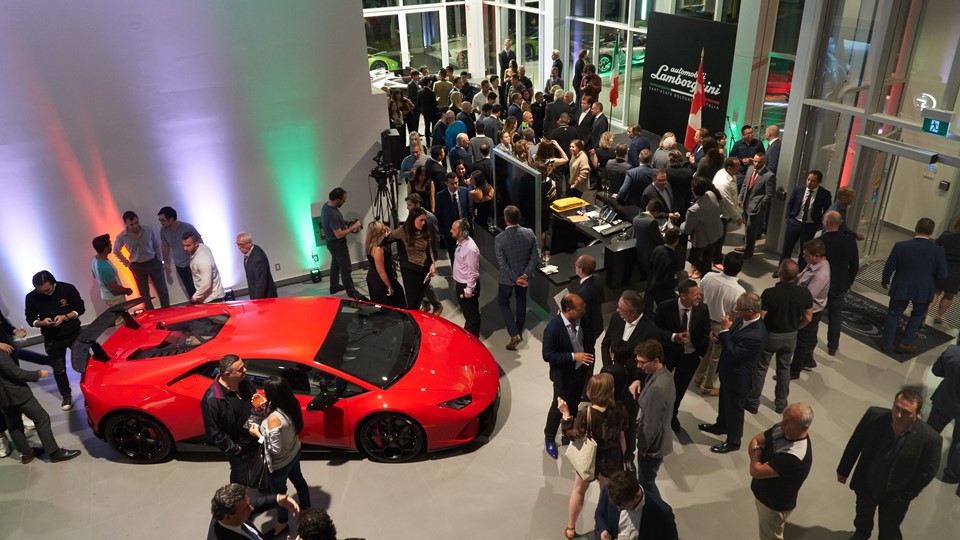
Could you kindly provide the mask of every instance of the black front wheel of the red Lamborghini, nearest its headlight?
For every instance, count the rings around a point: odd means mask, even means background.
[[[360,450],[371,460],[402,463],[423,451],[426,435],[412,419],[400,414],[378,414],[363,422]]]

